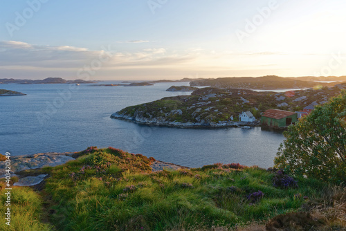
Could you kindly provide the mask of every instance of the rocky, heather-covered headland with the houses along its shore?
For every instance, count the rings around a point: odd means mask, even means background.
[[[244,89],[203,88],[192,95],[167,97],[127,107],[111,118],[169,127],[235,127],[239,114],[251,111],[259,119],[267,109],[301,111],[309,105],[324,104],[346,89],[346,83],[322,89],[288,93]]]

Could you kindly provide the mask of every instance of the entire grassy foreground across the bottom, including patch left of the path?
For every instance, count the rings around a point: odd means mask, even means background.
[[[328,227],[346,225],[342,187],[333,191],[336,187],[306,178],[295,179],[298,187],[274,187],[275,172],[239,164],[152,172],[153,161],[111,147],[82,151],[77,160],[46,169],[51,177],[43,191],[14,188],[13,225],[19,230],[260,230],[292,212],[328,217]],[[249,201],[258,191],[264,196]],[[40,195],[48,200],[46,210]],[[54,228],[39,222],[47,215]]]

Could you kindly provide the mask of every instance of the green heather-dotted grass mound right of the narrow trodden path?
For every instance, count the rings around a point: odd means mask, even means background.
[[[325,187],[300,179],[298,189],[278,189],[273,174],[258,167],[210,165],[152,173],[150,163],[144,156],[102,149],[53,169],[46,184],[55,203],[51,221],[58,230],[211,228],[299,210],[305,201],[295,194],[319,198]],[[237,191],[228,192],[231,186]],[[264,197],[251,204],[246,196],[258,190]]]

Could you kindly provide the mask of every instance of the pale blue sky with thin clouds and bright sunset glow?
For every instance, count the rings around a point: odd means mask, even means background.
[[[1,1],[0,78],[346,75],[344,0]]]

